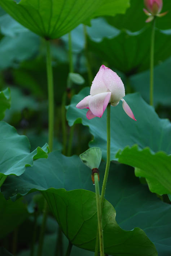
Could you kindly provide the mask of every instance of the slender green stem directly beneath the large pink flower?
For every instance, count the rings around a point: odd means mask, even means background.
[[[109,174],[109,167],[110,167],[110,103],[108,104],[108,107],[107,107],[107,162],[106,162],[105,176],[104,176],[102,190],[101,190],[101,209],[103,208],[106,183],[107,183],[108,174]]]

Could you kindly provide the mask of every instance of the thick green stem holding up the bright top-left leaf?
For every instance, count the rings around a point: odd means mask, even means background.
[[[47,78],[48,78],[48,133],[49,133],[49,149],[53,148],[53,130],[54,130],[54,95],[53,95],[53,71],[52,71],[52,57],[50,50],[50,42],[46,40],[46,55],[47,55]]]

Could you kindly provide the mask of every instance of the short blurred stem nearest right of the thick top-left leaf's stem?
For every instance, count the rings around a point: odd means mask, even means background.
[[[62,142],[63,142],[63,155],[66,154],[66,140],[67,140],[67,134],[66,134],[66,117],[65,117],[65,105],[66,105],[66,91],[63,93],[62,96],[62,106],[61,106],[61,118],[62,118]]]

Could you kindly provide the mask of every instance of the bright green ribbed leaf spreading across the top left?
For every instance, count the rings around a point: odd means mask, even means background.
[[[58,38],[98,15],[124,13],[129,0],[0,0],[16,21],[45,38]]]

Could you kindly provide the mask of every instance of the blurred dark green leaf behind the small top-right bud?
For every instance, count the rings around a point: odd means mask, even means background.
[[[131,0],[130,8],[127,9],[127,12],[123,14],[118,14],[115,17],[107,17],[108,22],[117,27],[118,29],[128,29],[131,31],[138,31],[145,26],[152,26],[152,22],[147,24],[145,20],[148,18],[143,12],[144,1]],[[171,1],[163,1],[162,12],[171,10]],[[156,19],[156,26],[159,29],[171,29],[171,15],[167,13],[166,16]],[[147,39],[148,40],[148,39]]]

